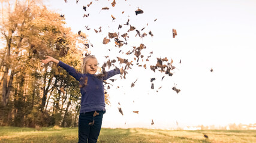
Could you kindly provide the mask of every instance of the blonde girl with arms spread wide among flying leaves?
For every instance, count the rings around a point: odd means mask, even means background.
[[[44,64],[53,61],[80,82],[81,108],[79,115],[79,143],[97,142],[100,135],[103,114],[106,113],[103,80],[122,73],[123,69],[110,70],[103,76],[96,76],[98,61],[94,55],[83,58],[82,73],[53,57],[46,56]]]

